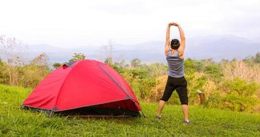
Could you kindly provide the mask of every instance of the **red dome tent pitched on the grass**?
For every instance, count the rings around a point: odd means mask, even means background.
[[[126,81],[95,60],[64,64],[43,79],[23,108],[47,114],[139,116],[141,107]]]

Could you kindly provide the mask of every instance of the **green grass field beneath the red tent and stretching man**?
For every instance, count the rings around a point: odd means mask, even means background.
[[[191,125],[182,124],[178,105],[165,106],[156,120],[156,103],[141,103],[146,118],[69,119],[21,110],[31,89],[0,85],[0,136],[260,136],[260,114],[190,106]]]

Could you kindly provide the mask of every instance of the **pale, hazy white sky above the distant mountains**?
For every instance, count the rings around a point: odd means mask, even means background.
[[[57,47],[137,44],[165,40],[167,23],[187,38],[235,35],[260,38],[259,0],[1,0],[0,34]],[[177,35],[176,32],[172,36]]]

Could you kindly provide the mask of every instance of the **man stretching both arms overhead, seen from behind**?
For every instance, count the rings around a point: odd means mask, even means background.
[[[180,42],[178,39],[173,39],[169,42],[169,31],[171,26],[176,26],[180,32]],[[174,90],[177,91],[182,105],[184,115],[184,123],[189,124],[189,109],[187,96],[187,81],[184,77],[184,51],[185,51],[185,36],[182,28],[178,23],[169,23],[166,32],[165,55],[169,66],[169,73],[165,92],[158,103],[157,119],[161,119],[161,113],[165,102],[169,100]]]

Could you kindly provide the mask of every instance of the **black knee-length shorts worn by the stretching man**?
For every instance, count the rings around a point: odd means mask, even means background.
[[[170,77],[168,76],[165,92],[163,93],[162,101],[168,101],[172,96],[172,92],[177,91],[182,105],[188,105],[188,90],[187,80],[185,77]]]

